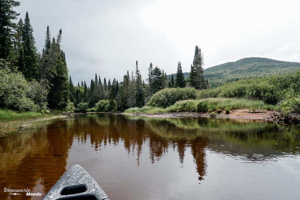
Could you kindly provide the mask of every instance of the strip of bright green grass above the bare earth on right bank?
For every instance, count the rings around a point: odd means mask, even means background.
[[[183,100],[177,101],[174,105],[167,108],[157,108],[145,106],[142,108],[130,108],[125,113],[153,114],[158,112],[214,112],[235,109],[265,109],[278,110],[277,106],[266,104],[262,101],[246,99],[228,99],[228,98],[207,98],[202,100]]]

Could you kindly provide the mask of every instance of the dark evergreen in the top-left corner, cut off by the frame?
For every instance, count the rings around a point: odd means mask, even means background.
[[[0,58],[10,59],[13,48],[13,29],[16,27],[14,22],[19,13],[13,7],[19,6],[19,1],[1,0],[0,2]]]

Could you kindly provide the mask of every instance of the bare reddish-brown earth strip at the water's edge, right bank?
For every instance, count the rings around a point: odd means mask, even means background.
[[[135,115],[135,116],[145,116],[145,117],[160,117],[160,118],[180,118],[180,117],[215,117],[215,118],[235,118],[235,119],[250,119],[250,120],[265,120],[270,115],[274,114],[275,111],[269,110],[260,110],[257,109],[255,111],[249,111],[249,109],[237,109],[237,110],[230,110],[229,114],[226,114],[224,111],[220,113],[214,113],[211,115],[210,112],[161,112],[161,113],[129,113],[124,112],[124,115]]]

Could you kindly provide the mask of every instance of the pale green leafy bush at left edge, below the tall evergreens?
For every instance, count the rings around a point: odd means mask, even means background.
[[[45,109],[46,97],[46,90],[38,82],[28,82],[20,72],[0,70],[1,107],[38,111]]]

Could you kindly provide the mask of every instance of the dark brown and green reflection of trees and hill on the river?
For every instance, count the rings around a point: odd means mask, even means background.
[[[181,164],[184,164],[185,152],[190,148],[199,180],[203,180],[206,173],[205,146],[208,143],[212,150],[227,151],[230,154],[247,151],[249,155],[255,153],[267,157],[276,152],[299,153],[299,127],[295,126],[281,127],[276,124],[222,119],[135,118],[107,114],[79,115],[73,118],[77,120],[57,121],[37,132],[2,137],[0,186],[22,188],[26,185],[33,190],[37,181],[40,181],[43,191],[47,192],[64,173],[69,148],[76,141],[82,144],[90,141],[95,151],[101,150],[101,145],[123,144],[128,154],[136,154],[138,166],[142,148],[149,148],[152,163],[167,154],[170,147],[177,148]],[[220,146],[224,143],[224,146]],[[285,150],[286,146],[289,146],[288,150]],[[7,199],[7,194],[0,193],[0,199]]]

